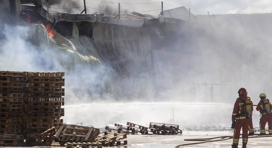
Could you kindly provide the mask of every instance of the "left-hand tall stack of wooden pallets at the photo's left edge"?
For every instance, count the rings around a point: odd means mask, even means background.
[[[24,87],[24,72],[0,71],[0,134],[21,133]]]

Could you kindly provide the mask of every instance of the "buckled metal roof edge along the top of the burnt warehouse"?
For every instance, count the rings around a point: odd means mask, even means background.
[[[103,14],[49,13],[43,8],[41,0],[21,0],[21,7],[23,7],[24,10],[31,11],[32,13],[38,12],[42,17],[46,18],[51,23],[57,23],[59,21],[67,22],[88,21],[98,23],[110,23],[130,27],[141,27],[143,25],[157,23],[157,21],[160,21],[161,23],[178,23],[179,21],[182,20],[183,21],[188,20],[187,18],[183,17],[180,18],[167,15],[167,11],[164,11],[164,15],[159,17],[149,14],[140,14],[137,12],[132,12],[130,14],[120,16],[120,19],[116,18],[116,16],[103,16]],[[176,8],[176,10],[178,9],[183,10],[183,7]]]

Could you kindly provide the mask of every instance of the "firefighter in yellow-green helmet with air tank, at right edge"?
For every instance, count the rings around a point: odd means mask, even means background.
[[[260,134],[265,134],[265,125],[268,122],[268,133],[272,134],[272,105],[266,98],[264,93],[260,94],[260,102],[258,103],[256,109],[262,114],[260,119]]]

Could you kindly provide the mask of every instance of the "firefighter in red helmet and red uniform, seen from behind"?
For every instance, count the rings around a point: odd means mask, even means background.
[[[248,143],[248,126],[252,116],[253,105],[251,104],[250,97],[247,96],[248,92],[245,88],[240,88],[238,94],[239,98],[237,98],[232,112],[232,122],[235,122],[232,147],[238,147],[242,128],[244,148]]]

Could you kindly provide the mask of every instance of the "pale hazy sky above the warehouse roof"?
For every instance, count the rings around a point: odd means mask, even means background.
[[[53,0],[49,0],[53,1]],[[120,2],[120,3],[149,3],[160,2],[160,0],[102,0],[105,2]],[[58,0],[54,2],[62,2],[61,4],[53,4],[50,7],[55,8],[73,8],[83,6],[83,0]],[[118,4],[98,2],[96,0],[86,0],[86,5],[91,7],[87,8],[89,14],[103,13],[100,10],[118,11]],[[191,8],[193,14],[252,14],[252,13],[271,13],[272,1],[271,0],[166,0],[167,4],[174,6],[185,6]],[[77,5],[75,5],[77,3]],[[164,4],[164,9],[176,8],[170,5]],[[100,9],[95,10],[92,8]],[[83,8],[73,9],[72,13],[80,13]],[[121,11],[149,11],[161,9],[161,3],[154,4],[121,4]],[[68,9],[53,9],[51,11],[65,12]],[[196,10],[196,11],[195,11]],[[199,12],[203,11],[203,12]],[[143,14],[158,15],[160,10],[141,12]]]

